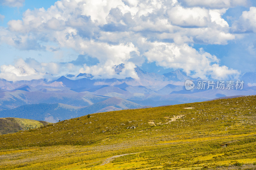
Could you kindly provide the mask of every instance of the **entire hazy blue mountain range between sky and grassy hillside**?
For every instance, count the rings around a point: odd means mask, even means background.
[[[116,73],[123,65],[115,66]],[[93,79],[91,74],[66,75],[47,79],[7,81],[0,79],[0,117],[18,117],[38,121],[59,120],[86,114],[122,109],[157,107],[215,98],[256,94],[256,74],[245,73],[243,89],[185,89],[185,81],[195,84],[181,70],[163,75],[135,68],[139,79]],[[217,81],[217,80],[216,80]],[[235,80],[234,80],[235,81]],[[256,84],[255,84],[256,85]],[[207,86],[207,84],[206,84]]]

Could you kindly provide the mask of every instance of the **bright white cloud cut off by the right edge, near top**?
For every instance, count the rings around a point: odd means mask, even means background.
[[[238,33],[256,33],[256,7],[250,7],[249,11],[243,11],[240,18],[233,23],[232,29]]]

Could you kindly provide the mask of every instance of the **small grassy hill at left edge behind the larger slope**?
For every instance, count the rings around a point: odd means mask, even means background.
[[[0,135],[29,130],[48,125],[48,122],[20,118],[0,118]]]

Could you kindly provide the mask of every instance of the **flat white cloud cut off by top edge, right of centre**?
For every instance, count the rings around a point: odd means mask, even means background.
[[[207,7],[211,9],[230,8],[237,5],[246,6],[248,4],[248,0],[180,0],[180,2],[188,6]]]

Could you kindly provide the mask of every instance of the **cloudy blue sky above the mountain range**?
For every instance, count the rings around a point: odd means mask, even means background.
[[[0,78],[256,72],[254,0],[0,0]],[[116,74],[114,65],[124,63]]]

